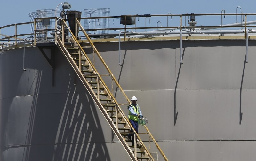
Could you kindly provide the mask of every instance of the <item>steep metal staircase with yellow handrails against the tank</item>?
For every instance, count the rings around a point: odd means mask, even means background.
[[[63,21],[66,26],[65,21]],[[129,98],[125,95],[123,89],[120,87],[119,83],[116,81],[116,78],[109,70],[108,66],[100,56],[99,52],[93,45],[92,41],[90,40],[89,36],[84,31],[83,27],[81,26],[80,22],[76,20],[76,24],[81,28],[82,32],[86,36],[88,42],[90,43],[90,47],[94,50],[97,56],[100,58],[103,65],[106,67],[108,71],[108,75],[111,76],[112,80],[116,83],[116,87],[119,88],[120,92],[123,94],[124,98],[126,99],[125,104],[131,104]],[[69,32],[71,33],[70,29],[68,28]],[[77,35],[77,34],[76,34]],[[133,133],[130,132],[130,129],[133,127],[131,126],[129,120],[126,118],[125,113],[120,108],[120,103],[118,104],[113,94],[110,92],[109,88],[103,81],[101,75],[95,69],[93,63],[87,57],[86,53],[83,50],[83,47],[79,44],[76,37],[71,33],[72,43],[64,43],[63,39],[61,40],[59,37],[56,37],[56,44],[59,47],[60,51],[64,54],[70,65],[76,71],[76,74],[83,82],[84,86],[89,91],[90,95],[94,99],[95,103],[99,107],[100,111],[106,118],[109,126],[112,128],[113,132],[116,134],[117,138],[123,145],[124,149],[127,151],[128,155],[133,161],[154,161],[154,158],[151,156],[149,150],[146,148],[144,143],[141,141],[139,134],[135,133],[135,144],[134,146],[128,145],[131,142],[128,139],[128,134]],[[112,90],[113,91],[113,90]],[[167,158],[164,156],[164,153],[159,148],[158,144],[156,143],[155,139],[149,132],[148,128],[146,128],[147,134],[152,141],[155,142],[156,147],[160,150],[160,153],[164,157],[164,160]],[[135,131],[133,129],[133,131]]]

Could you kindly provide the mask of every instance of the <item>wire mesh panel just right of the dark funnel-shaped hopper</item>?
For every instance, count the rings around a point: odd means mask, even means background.
[[[84,9],[84,17],[107,17],[107,16],[110,16],[110,8]],[[90,37],[91,39],[109,38],[110,30],[96,30],[100,28],[101,29],[110,28],[110,18],[84,19],[84,29],[86,30],[89,36],[91,34],[94,35],[94,37]],[[89,30],[89,29],[92,29],[92,30]]]

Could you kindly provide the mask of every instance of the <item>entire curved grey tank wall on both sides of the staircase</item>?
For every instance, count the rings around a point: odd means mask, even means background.
[[[182,65],[179,41],[121,42],[123,66],[118,42],[95,46],[127,96],[137,96],[169,160],[253,160],[255,41],[248,64],[245,40],[182,44]],[[0,160],[130,160],[67,60],[52,50],[44,49],[53,69],[38,48],[26,48],[27,71],[23,48],[0,52]]]

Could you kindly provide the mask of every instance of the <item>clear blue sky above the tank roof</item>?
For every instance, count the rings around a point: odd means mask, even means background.
[[[14,23],[28,22],[30,21],[28,13],[36,12],[37,9],[55,9],[58,4],[63,2],[65,1],[3,0],[1,2],[0,27]],[[67,2],[72,5],[72,8],[70,10],[82,11],[82,17],[84,17],[84,9],[93,8],[110,8],[110,16],[120,16],[128,14],[167,14],[168,12],[171,12],[172,14],[221,13],[223,9],[225,9],[226,13],[236,13],[237,6],[240,6],[242,8],[243,13],[256,13],[255,0],[67,0]],[[61,8],[61,5],[58,8]],[[240,9],[238,12],[240,12]],[[239,21],[241,22],[241,17],[239,19]],[[256,16],[254,20],[256,20]],[[151,21],[152,23],[150,24],[150,26],[156,27],[157,20],[153,22],[153,19],[151,19]],[[218,21],[218,24],[220,25],[220,16],[198,21],[198,25],[204,26],[205,21]],[[140,20],[140,23],[144,25],[144,19],[142,19],[142,22]],[[170,22],[172,23],[172,21]],[[227,17],[225,19],[223,18],[223,24],[235,22],[236,17],[234,16],[231,18],[231,20],[228,20]],[[118,22],[115,23],[117,24]],[[162,24],[164,23],[162,22]]]

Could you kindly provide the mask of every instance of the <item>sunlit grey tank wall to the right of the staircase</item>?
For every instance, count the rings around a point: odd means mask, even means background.
[[[245,40],[188,40],[182,45],[181,65],[180,41],[121,42],[119,66],[118,42],[95,43],[127,96],[137,96],[169,160],[253,160],[255,40],[249,40],[248,64]],[[86,52],[92,58],[92,49]],[[103,71],[97,59],[95,64]]]

